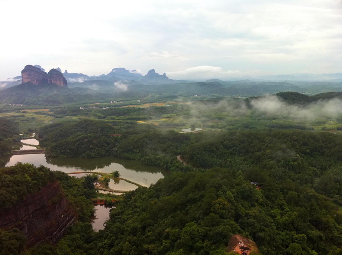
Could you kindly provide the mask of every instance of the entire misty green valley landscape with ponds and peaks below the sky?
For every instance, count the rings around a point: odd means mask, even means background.
[[[341,82],[113,70],[0,91],[1,254],[341,253]]]

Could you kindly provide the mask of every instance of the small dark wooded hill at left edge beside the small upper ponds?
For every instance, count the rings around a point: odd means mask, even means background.
[[[0,118],[0,166],[5,157],[11,155],[15,143],[15,136],[19,135],[18,125],[9,118]]]

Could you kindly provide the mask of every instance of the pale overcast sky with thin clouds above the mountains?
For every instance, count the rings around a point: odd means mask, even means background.
[[[0,0],[0,80],[27,64],[172,79],[342,72],[341,0]]]

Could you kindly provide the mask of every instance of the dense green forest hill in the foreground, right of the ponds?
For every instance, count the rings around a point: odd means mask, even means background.
[[[339,207],[310,187],[269,180],[257,190],[243,171],[216,167],[138,188],[116,203],[105,230],[73,227],[56,248],[28,254],[226,254],[241,233],[262,254],[337,255],[341,230]]]

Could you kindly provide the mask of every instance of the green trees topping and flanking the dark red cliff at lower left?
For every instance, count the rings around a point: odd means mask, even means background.
[[[58,180],[66,198],[78,214],[79,221],[70,231],[74,228],[92,231],[90,221],[94,206],[90,198],[96,197],[97,193],[89,182],[94,180],[94,176],[70,177],[60,171],[50,171],[44,166],[18,163],[15,166],[0,168],[0,179],[0,212],[11,210],[13,205],[20,203],[28,194],[34,194],[49,182]],[[0,254],[18,254],[24,249],[25,241],[23,232],[16,228],[0,229]]]

